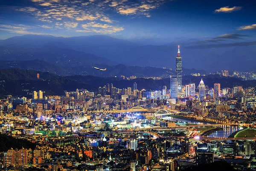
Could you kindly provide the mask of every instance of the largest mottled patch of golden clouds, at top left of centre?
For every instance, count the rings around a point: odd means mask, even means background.
[[[41,21],[39,28],[113,34],[124,28],[107,11],[133,17],[151,17],[150,11],[166,0],[30,0],[26,12]],[[114,16],[114,15],[111,15]]]

